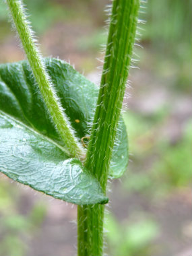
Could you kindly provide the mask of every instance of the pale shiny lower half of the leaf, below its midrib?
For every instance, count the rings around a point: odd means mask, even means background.
[[[98,181],[56,143],[0,112],[0,169],[14,181],[75,204],[106,203]]]

